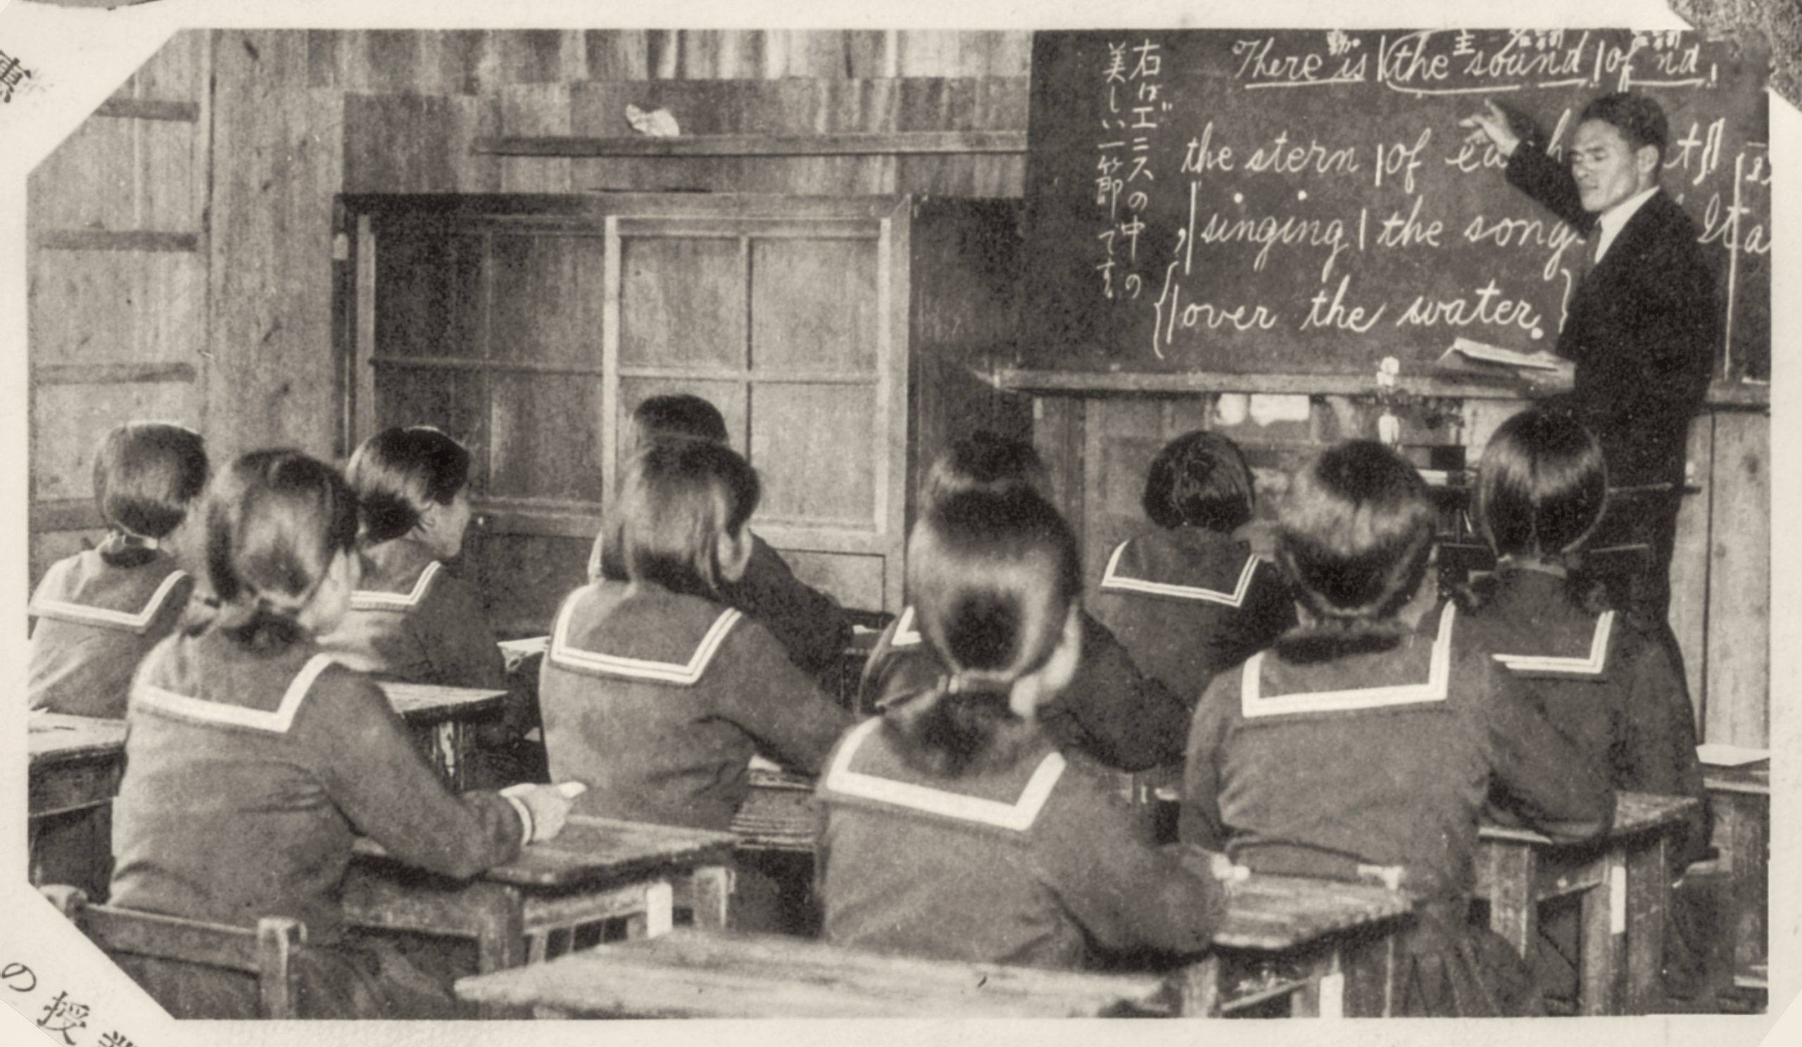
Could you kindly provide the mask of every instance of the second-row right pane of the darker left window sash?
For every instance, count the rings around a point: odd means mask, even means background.
[[[600,503],[600,378],[494,375],[494,497]]]

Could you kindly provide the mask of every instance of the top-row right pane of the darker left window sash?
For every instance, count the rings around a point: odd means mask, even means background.
[[[496,236],[494,359],[598,371],[605,263],[602,236]]]

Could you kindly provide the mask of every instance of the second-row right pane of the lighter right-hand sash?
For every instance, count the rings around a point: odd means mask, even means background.
[[[874,530],[876,432],[870,386],[755,384],[751,465],[764,479],[759,515]]]

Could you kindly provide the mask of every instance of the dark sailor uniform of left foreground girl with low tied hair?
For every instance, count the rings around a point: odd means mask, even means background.
[[[454,1016],[454,970],[344,928],[351,842],[469,878],[515,858],[523,831],[515,802],[450,795],[375,683],[317,645],[171,636],[132,690],[112,903],[240,926],[303,921],[308,1016]],[[254,1015],[249,979],[155,962],[128,973],[193,1016]]]

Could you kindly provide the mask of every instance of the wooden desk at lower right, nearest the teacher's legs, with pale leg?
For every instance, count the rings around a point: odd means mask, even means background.
[[[1696,800],[1616,793],[1615,827],[1598,842],[1553,843],[1539,833],[1483,825],[1476,897],[1488,926],[1530,957],[1539,905],[1577,894],[1582,906],[1579,1011],[1645,1015],[1663,1002],[1665,912],[1670,905],[1670,834]]]

